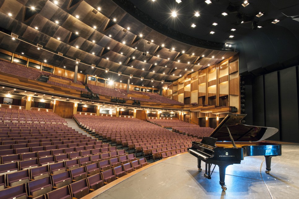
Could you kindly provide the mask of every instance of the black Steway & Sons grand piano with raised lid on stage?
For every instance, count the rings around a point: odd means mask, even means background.
[[[188,152],[198,160],[198,170],[201,161],[206,162],[204,177],[211,179],[216,165],[219,167],[221,188],[225,191],[225,169],[231,164],[240,164],[246,156],[265,156],[266,173],[271,171],[271,158],[281,155],[281,145],[259,142],[278,132],[277,128],[257,127],[242,124],[246,115],[228,114],[215,128],[209,137],[203,137],[201,142],[192,142]],[[211,171],[211,165],[214,168]]]

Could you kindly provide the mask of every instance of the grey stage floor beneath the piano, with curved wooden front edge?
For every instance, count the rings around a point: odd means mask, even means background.
[[[204,169],[204,163],[201,167]],[[266,174],[264,156],[245,157],[226,169],[226,191],[219,185],[216,166],[212,179],[197,169],[197,158],[185,153],[147,166],[120,183],[108,184],[86,198],[298,198],[299,145],[283,144],[282,156],[273,157]],[[138,171],[138,170],[137,170]],[[125,176],[124,176],[125,177]],[[112,182],[114,183],[114,182]]]

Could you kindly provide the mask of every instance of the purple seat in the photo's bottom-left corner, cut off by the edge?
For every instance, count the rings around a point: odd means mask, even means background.
[[[26,199],[27,197],[28,195],[25,184],[20,184],[0,191],[0,198],[3,199]]]

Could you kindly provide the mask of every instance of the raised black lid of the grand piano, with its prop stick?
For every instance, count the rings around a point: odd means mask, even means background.
[[[249,126],[242,124],[241,121],[245,116],[245,114],[227,114],[227,116],[211,133],[210,137],[217,138],[217,141],[231,141],[227,127],[235,142],[263,141],[278,132],[277,128]]]

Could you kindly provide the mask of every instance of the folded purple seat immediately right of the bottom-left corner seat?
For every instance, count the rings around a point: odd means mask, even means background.
[[[52,191],[52,183],[50,176],[33,180],[27,183],[28,198],[35,198]]]

